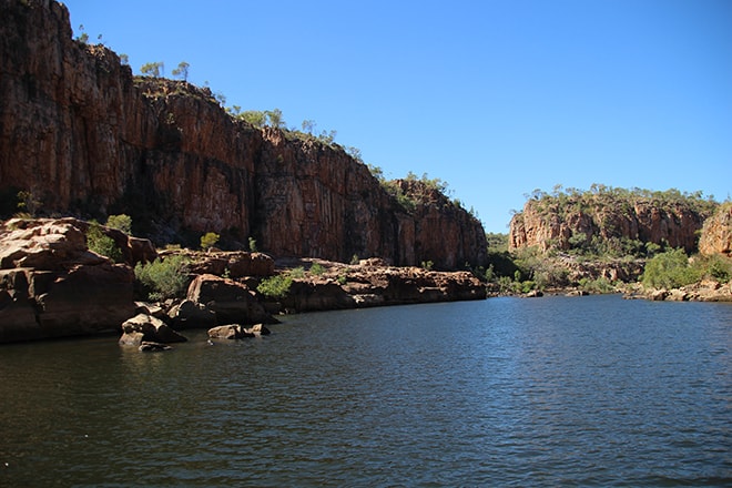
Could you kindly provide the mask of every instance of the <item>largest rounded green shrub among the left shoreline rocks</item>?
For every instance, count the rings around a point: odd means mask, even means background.
[[[134,276],[148,292],[148,298],[162,301],[181,297],[189,284],[189,264],[185,256],[171,255],[152,263],[138,263]]]

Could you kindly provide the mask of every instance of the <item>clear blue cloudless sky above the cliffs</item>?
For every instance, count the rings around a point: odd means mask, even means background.
[[[730,0],[65,0],[135,73],[181,61],[242,110],[316,122],[487,232],[535,189],[732,193]]]

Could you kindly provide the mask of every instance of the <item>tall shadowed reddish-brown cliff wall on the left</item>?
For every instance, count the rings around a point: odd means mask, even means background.
[[[48,214],[126,213],[159,243],[213,231],[274,255],[486,263],[480,222],[444,195],[405,207],[335,144],[237,121],[207,89],[135,78],[72,40],[55,1],[0,0],[0,18],[6,202],[22,190]]]

